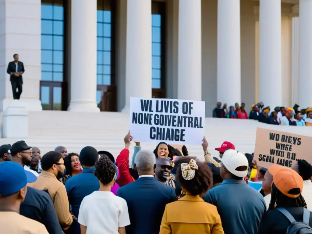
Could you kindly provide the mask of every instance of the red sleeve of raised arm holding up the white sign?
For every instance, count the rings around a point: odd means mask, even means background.
[[[129,171],[129,149],[121,150],[116,158],[116,164],[119,169],[119,179],[116,181],[120,187],[134,181]]]

